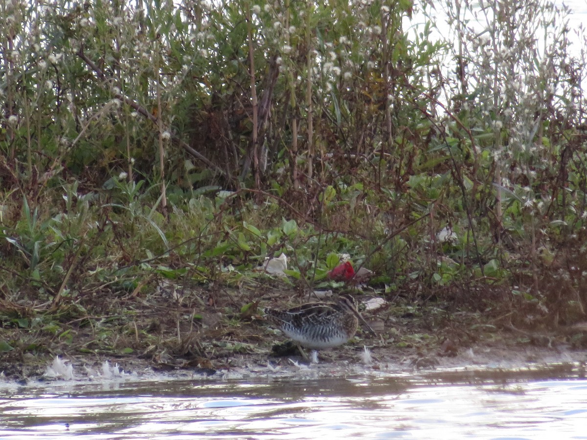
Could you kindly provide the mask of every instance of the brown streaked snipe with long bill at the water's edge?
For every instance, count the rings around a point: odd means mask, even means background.
[[[342,295],[332,303],[307,303],[288,310],[265,309],[269,320],[295,343],[311,350],[324,350],[346,343],[355,336],[359,320],[375,335],[357,310],[355,298]]]

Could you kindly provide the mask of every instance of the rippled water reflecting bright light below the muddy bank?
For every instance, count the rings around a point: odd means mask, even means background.
[[[51,390],[51,391],[48,391]],[[0,438],[587,439],[577,365],[0,390]]]

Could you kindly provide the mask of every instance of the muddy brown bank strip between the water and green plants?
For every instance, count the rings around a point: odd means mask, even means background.
[[[529,331],[480,312],[448,311],[438,302],[414,303],[366,291],[355,295],[363,304],[360,309],[379,298],[378,307],[362,312],[377,336],[360,328],[349,343],[321,351],[319,363],[308,365],[261,311],[305,302],[305,295],[275,282],[259,281],[253,287],[160,285],[146,297],[119,295],[109,301],[100,300],[103,293],[97,292],[78,299],[77,306],[72,303],[57,323],[46,315],[36,327],[5,323],[0,339],[9,341],[12,350],[0,353],[0,374],[8,381],[43,380],[56,356],[81,376],[84,366],[98,368],[109,361],[124,371],[211,378],[237,372],[287,375],[301,368],[347,375],[357,368],[410,373],[546,364],[572,364],[580,375],[587,363],[581,326]],[[35,312],[32,306],[27,310]]]

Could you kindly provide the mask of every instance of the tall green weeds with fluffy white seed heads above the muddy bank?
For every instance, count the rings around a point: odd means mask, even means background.
[[[285,252],[301,287],[348,254],[381,295],[585,314],[585,67],[548,2],[447,2],[456,40],[410,0],[0,9],[7,309]]]

